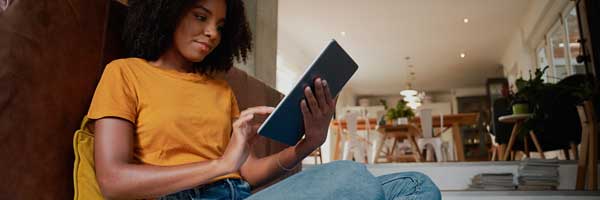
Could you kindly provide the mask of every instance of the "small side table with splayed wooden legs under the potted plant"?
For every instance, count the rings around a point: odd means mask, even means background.
[[[506,161],[508,159],[508,156],[510,155],[510,152],[512,150],[512,146],[515,143],[515,138],[517,137],[517,135],[519,134],[519,130],[523,126],[523,122],[525,122],[525,120],[531,118],[531,116],[532,116],[531,114],[512,114],[512,115],[501,116],[498,118],[498,121],[500,121],[502,123],[515,124],[513,126],[512,133],[510,134],[510,139],[508,140],[508,146],[506,147],[505,151],[502,150],[502,149],[504,149],[504,144],[500,144],[500,154],[501,154],[500,158],[502,158],[502,161]],[[535,148],[537,149],[537,151],[540,152],[542,159],[544,159],[545,158],[544,152],[542,151],[542,147],[540,146],[540,143],[538,142],[537,137],[535,136],[535,133],[533,132],[533,130],[529,131],[529,136],[531,137],[531,140],[533,141],[533,144],[535,145]],[[524,143],[525,144],[525,154],[527,154],[529,156],[529,148],[527,147],[527,136],[525,136],[524,142],[525,142]]]

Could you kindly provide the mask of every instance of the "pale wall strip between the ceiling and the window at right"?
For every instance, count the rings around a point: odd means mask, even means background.
[[[531,1],[527,14],[512,35],[502,56],[501,64],[509,84],[518,77],[529,78],[529,71],[537,67],[535,49],[545,41],[545,34],[560,18],[560,12],[569,0]]]

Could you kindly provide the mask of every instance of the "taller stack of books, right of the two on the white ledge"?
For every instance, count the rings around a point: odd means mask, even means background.
[[[556,190],[559,185],[558,160],[522,160],[517,181],[519,190]]]

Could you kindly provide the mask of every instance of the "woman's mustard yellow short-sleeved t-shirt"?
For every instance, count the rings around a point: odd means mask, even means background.
[[[239,108],[222,78],[126,58],[106,66],[88,111],[90,119],[109,116],[135,125],[136,160],[172,166],[223,155]],[[240,177],[232,173],[213,181]]]

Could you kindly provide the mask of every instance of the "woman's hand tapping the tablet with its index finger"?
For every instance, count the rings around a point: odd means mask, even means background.
[[[248,108],[240,114],[235,122],[233,122],[231,139],[227,144],[227,149],[221,158],[224,165],[227,167],[227,172],[236,172],[246,162],[250,153],[250,146],[256,138],[257,125],[252,124],[252,119],[255,115],[267,115],[273,112],[273,107],[259,106]]]

